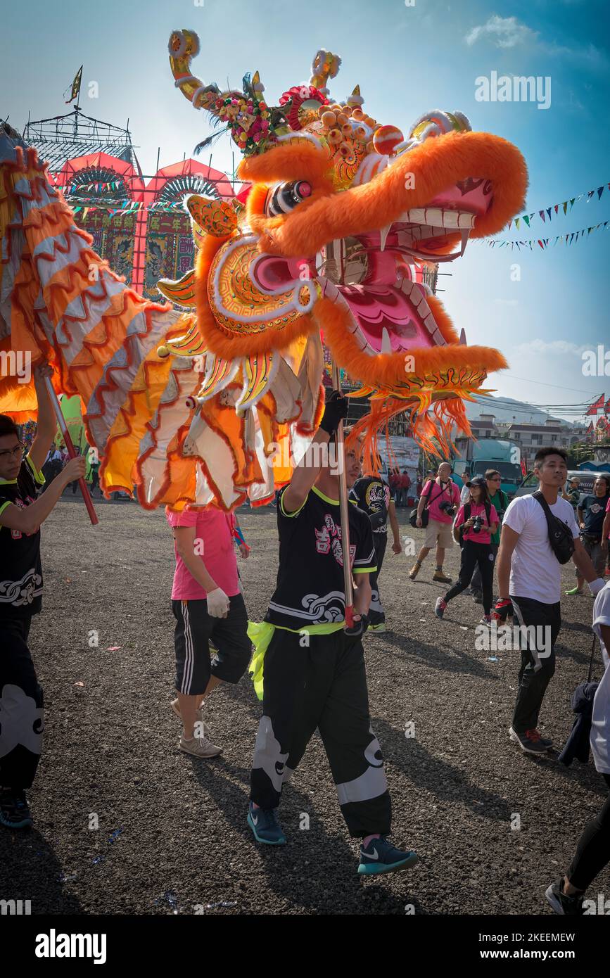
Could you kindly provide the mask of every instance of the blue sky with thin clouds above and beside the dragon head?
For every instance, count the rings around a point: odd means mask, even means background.
[[[314,54],[326,47],[342,58],[331,93],[344,97],[360,83],[366,108],[382,122],[407,132],[428,109],[465,112],[474,129],[498,133],[526,157],[528,211],[610,182],[605,0],[64,0],[59,15],[57,6],[30,0],[25,10],[13,4],[3,14],[0,115],[21,129],[29,110],[32,119],[65,111],[63,92],[83,63],[82,110],[117,125],[129,117],[145,173],[157,147],[161,165],[175,162],[210,131],[174,89],[167,60],[171,30],[191,27],[201,39],[198,76],[238,87],[246,70],[258,68],[270,103],[307,80]],[[492,71],[549,76],[550,107],[476,101],[476,78]],[[92,80],[97,99],[86,94]],[[222,136],[213,165],[231,169],[232,147]],[[554,237],[604,220],[607,189],[550,227],[536,218],[531,232],[499,237]],[[583,350],[604,342],[610,350],[609,253],[610,230],[544,252],[468,245],[440,297],[469,343],[506,356],[510,370],[490,378],[502,396],[535,404],[610,397],[610,376],[582,372]],[[514,264],[519,281],[512,281]]]

